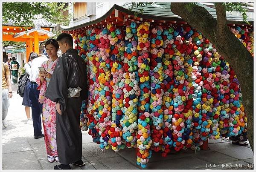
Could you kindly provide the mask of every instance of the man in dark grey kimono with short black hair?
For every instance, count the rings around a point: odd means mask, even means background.
[[[79,128],[82,100],[87,96],[86,63],[73,49],[73,38],[57,37],[61,52],[45,96],[56,104],[56,141],[59,162],[54,169],[70,169],[70,163],[84,166],[82,134]]]

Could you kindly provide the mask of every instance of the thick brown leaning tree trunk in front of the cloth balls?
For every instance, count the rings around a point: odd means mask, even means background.
[[[188,3],[171,3],[171,10],[200,31],[236,72],[248,118],[248,140],[253,151],[253,57],[228,29],[226,6],[216,3],[215,20],[204,7],[190,5],[191,10],[188,10],[187,5]]]

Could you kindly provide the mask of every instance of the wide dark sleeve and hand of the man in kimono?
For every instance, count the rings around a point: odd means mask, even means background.
[[[45,97],[48,97],[54,102],[61,104],[61,112],[63,113],[67,108],[67,73],[68,63],[64,57],[60,57],[56,63],[52,78],[47,87]]]

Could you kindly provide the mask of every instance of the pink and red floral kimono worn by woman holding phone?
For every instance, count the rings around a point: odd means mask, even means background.
[[[45,61],[42,64],[42,67],[46,70],[46,72],[52,75],[55,65],[58,59],[52,62],[52,59]],[[47,86],[49,84],[50,79],[46,78],[44,83],[40,82],[40,77],[36,79],[36,83],[38,84],[38,90],[40,90],[38,102],[43,103],[43,126],[44,126],[44,140],[47,155],[50,156],[58,156],[57,152],[57,144],[56,144],[56,103],[51,101],[49,98],[44,97]]]

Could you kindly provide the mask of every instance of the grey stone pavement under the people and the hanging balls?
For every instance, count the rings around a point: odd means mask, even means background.
[[[25,107],[21,105],[22,98],[16,94],[16,89],[17,86],[13,86],[14,94],[6,118],[9,126],[2,130],[3,169],[53,169],[58,163],[47,161],[44,138],[34,139],[33,126],[26,124]],[[136,165],[135,149],[102,152],[87,132],[83,131],[82,135],[82,160],[86,166],[71,166],[72,169],[141,169]],[[227,139],[219,139],[209,140],[209,148],[198,152],[190,149],[171,152],[166,158],[153,152],[146,169],[252,169],[250,146],[232,145]]]

